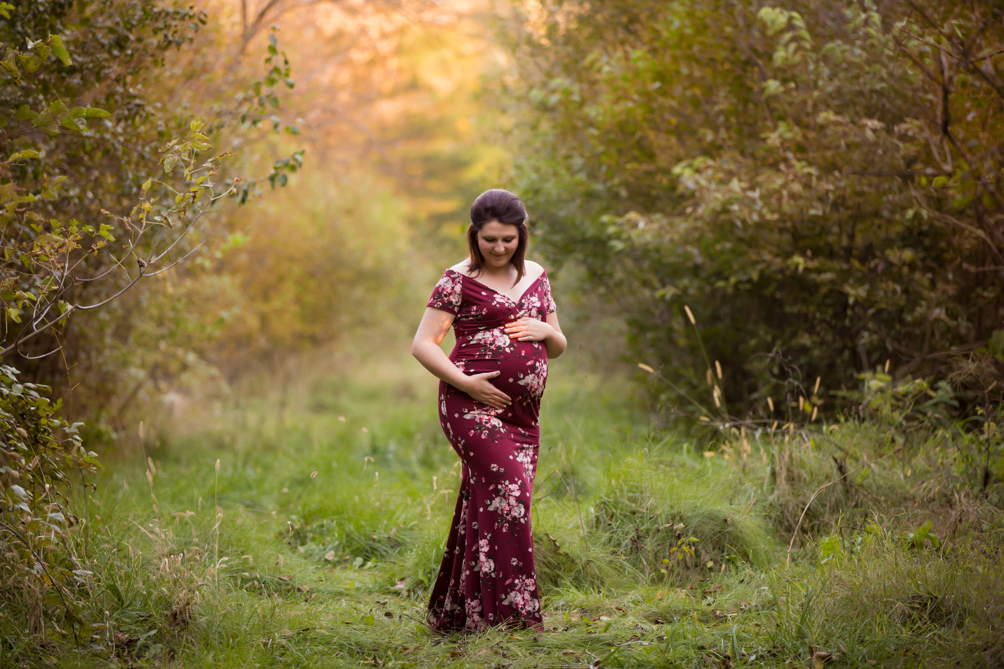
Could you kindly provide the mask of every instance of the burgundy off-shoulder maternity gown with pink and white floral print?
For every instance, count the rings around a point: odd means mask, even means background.
[[[540,446],[540,396],[547,380],[542,342],[503,328],[554,311],[541,274],[518,302],[447,270],[429,306],[456,316],[450,360],[465,374],[499,370],[492,383],[512,398],[501,409],[440,381],[440,423],[463,461],[460,494],[427,614],[444,632],[500,624],[540,627],[530,499]]]

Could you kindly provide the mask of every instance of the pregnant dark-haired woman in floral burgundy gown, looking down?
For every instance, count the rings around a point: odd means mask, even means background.
[[[463,462],[429,624],[541,627],[530,499],[547,359],[565,349],[542,267],[525,261],[526,210],[507,191],[471,207],[470,257],[436,284],[412,354],[439,377],[440,423]],[[439,347],[450,326],[457,345]]]

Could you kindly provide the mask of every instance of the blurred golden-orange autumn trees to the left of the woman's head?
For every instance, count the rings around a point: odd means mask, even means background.
[[[106,439],[128,416],[170,415],[192,397],[226,396],[249,372],[282,376],[297,353],[359,328],[400,334],[405,305],[421,300],[418,287],[432,278],[428,254],[446,251],[451,264],[460,257],[464,203],[503,155],[474,132],[479,116],[492,124],[474,92],[486,58],[496,62],[477,34],[478,11],[422,0],[9,10],[5,44],[52,33],[75,54],[37,71],[12,55],[23,76],[10,71],[3,81],[8,153],[41,156],[18,157],[10,182],[36,195],[46,176],[72,184],[40,200],[47,209],[39,222],[58,216],[95,231],[104,223],[104,234],[118,238],[128,224],[101,211],[137,218],[141,187],[161,170],[159,149],[192,117],[206,119],[217,152],[236,153],[225,174],[243,180],[229,205],[214,207],[175,248],[192,252],[183,264],[25,341],[11,364],[53,384],[66,410],[90,418],[87,429]],[[23,131],[15,109],[53,99],[111,115],[75,132]],[[304,161],[294,192],[257,198],[290,183]],[[249,176],[264,181],[249,191]],[[248,204],[235,208],[235,200]],[[49,232],[28,230],[18,213],[8,225],[27,231],[26,243]],[[88,276],[115,262],[103,247],[83,257]],[[128,269],[132,276],[78,280],[69,291],[101,302],[135,279],[135,259]],[[68,297],[60,299],[73,303]],[[15,302],[5,307],[23,307]],[[6,318],[17,330],[14,316]]]

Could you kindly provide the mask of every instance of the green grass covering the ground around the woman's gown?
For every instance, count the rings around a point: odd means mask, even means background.
[[[27,613],[6,612],[0,664],[1004,662],[997,488],[973,495],[920,453],[874,463],[887,446],[868,426],[797,446],[750,434],[745,458],[742,435],[728,433],[731,452],[708,457],[651,432],[625,382],[581,376],[573,359],[556,364],[542,411],[533,524],[544,632],[426,629],[457,458],[432,381],[399,361],[358,362],[281,412],[268,393],[191,411],[185,430],[108,460],[75,536],[93,573],[81,586],[88,615],[106,627],[75,650],[19,634]],[[833,454],[872,464],[817,497],[788,566],[798,515],[836,475]],[[926,519],[941,548],[899,539]]]

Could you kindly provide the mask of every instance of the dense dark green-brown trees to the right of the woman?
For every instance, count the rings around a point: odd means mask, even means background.
[[[768,396],[809,394],[798,373],[829,393],[978,356],[1001,378],[999,4],[525,8],[517,190],[548,258],[681,386],[664,401],[720,384],[774,418]]]

